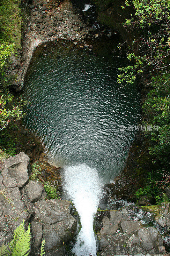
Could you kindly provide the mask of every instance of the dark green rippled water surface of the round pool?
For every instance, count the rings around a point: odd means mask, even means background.
[[[134,85],[116,83],[121,65],[106,47],[58,43],[37,53],[23,92],[24,122],[43,139],[51,163],[87,164],[103,183],[122,170],[135,132],[120,125],[136,125],[140,99]]]

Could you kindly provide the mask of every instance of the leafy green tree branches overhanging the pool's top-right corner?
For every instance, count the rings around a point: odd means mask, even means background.
[[[129,46],[127,58],[132,64],[119,68],[121,74],[117,81],[126,84],[134,83],[135,78],[147,69],[165,74],[169,70],[167,59],[170,55],[170,1],[132,0],[131,4],[136,10],[135,17],[123,25],[137,28],[142,36]],[[130,3],[126,1],[125,6]]]

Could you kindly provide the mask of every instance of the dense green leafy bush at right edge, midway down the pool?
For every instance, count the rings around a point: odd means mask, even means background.
[[[143,109],[149,117],[149,125],[158,126],[158,131],[150,133],[153,146],[149,148],[150,154],[169,164],[170,153],[170,75],[153,76],[152,90],[148,93]],[[149,133],[149,132],[146,132]]]

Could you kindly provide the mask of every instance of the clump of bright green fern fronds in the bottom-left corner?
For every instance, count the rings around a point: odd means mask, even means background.
[[[30,249],[30,225],[27,231],[24,228],[24,220],[18,228],[15,229],[13,239],[9,243],[9,249],[5,245],[0,247],[0,256],[27,256]],[[1,254],[2,253],[2,254]]]

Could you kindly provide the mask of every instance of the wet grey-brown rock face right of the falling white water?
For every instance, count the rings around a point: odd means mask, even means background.
[[[135,207],[137,209],[137,206]],[[128,207],[100,213],[103,215],[99,225],[100,232],[97,234],[100,245],[99,255],[158,253],[159,246],[164,245],[164,236],[170,228],[170,204],[163,204],[158,209],[159,212],[155,215],[139,209],[138,217],[130,215],[131,210],[128,211]],[[148,216],[153,225],[148,224],[146,227],[144,224]],[[165,236],[165,240],[167,237]]]

